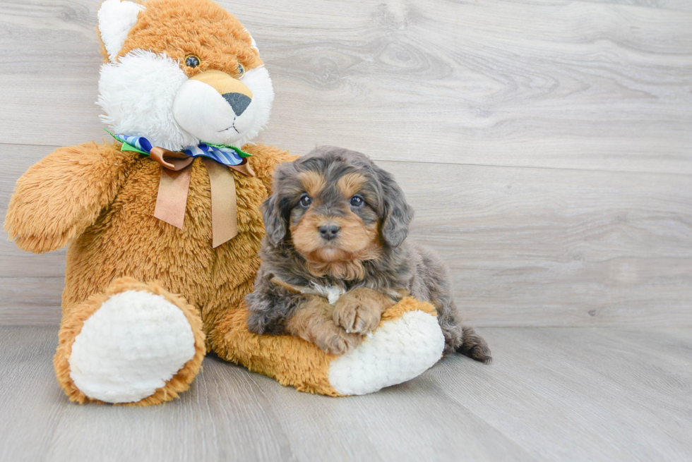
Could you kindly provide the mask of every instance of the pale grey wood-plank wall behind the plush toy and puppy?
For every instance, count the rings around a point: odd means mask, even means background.
[[[692,325],[692,2],[221,1],[276,91],[263,142],[366,152],[479,326]],[[0,1],[0,214],[102,138],[99,1]],[[0,239],[0,323],[59,321],[64,251]]]

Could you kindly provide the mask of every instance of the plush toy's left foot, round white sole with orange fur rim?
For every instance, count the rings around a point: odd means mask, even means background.
[[[205,354],[201,318],[160,285],[120,278],[66,313],[54,358],[72,401],[162,403],[189,388]]]

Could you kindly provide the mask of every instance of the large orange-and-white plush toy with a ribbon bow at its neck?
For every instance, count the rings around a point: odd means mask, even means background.
[[[403,382],[440,358],[434,309],[411,298],[339,357],[249,333],[260,205],[274,166],[294,159],[250,142],[273,101],[256,44],[208,0],[107,0],[98,30],[98,104],[115,140],[32,166],[5,222],[24,250],[69,244],[54,365],[71,400],[168,401],[209,350],[333,396]]]

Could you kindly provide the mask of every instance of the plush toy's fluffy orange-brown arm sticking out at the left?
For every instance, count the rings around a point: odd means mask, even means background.
[[[23,250],[63,247],[96,221],[135,159],[116,145],[95,142],[55,150],[18,179],[5,230]]]

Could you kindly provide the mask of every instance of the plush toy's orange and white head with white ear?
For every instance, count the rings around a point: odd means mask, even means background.
[[[112,130],[181,150],[241,147],[269,119],[274,92],[249,32],[210,0],[106,0],[101,116]]]

